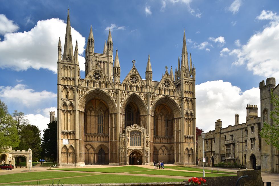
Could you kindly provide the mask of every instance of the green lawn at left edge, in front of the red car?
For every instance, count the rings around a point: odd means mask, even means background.
[[[24,172],[24,173],[0,175],[0,184],[8,183],[11,181],[16,182],[16,181],[28,181],[28,180],[37,180],[37,179],[51,179],[51,178],[81,176],[81,175],[90,175],[90,174],[91,173],[60,172],[60,171]]]

